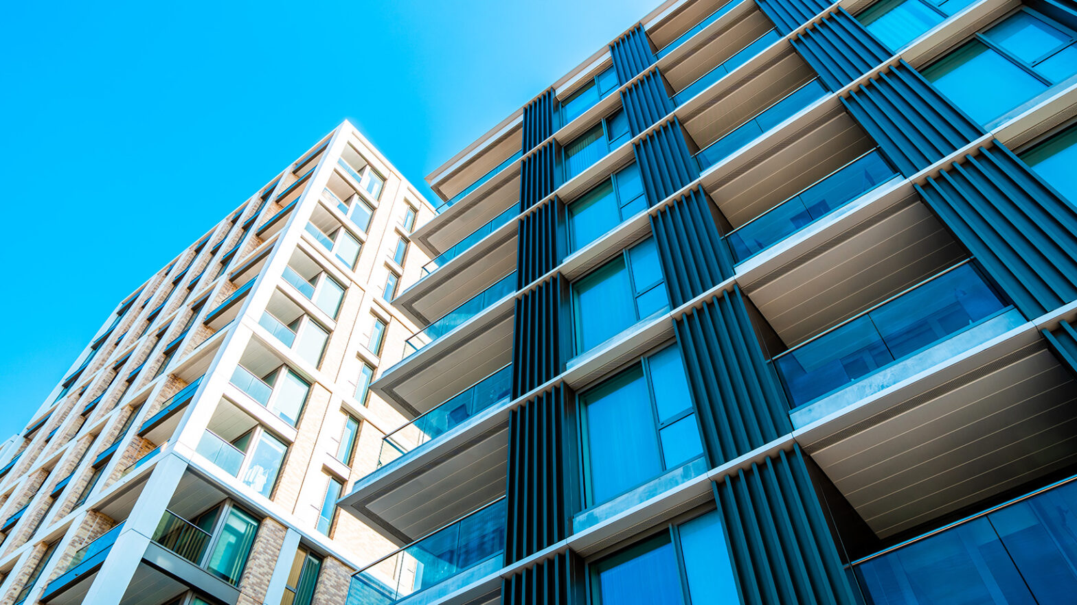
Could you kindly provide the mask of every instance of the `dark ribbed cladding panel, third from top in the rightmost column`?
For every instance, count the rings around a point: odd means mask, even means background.
[[[904,59],[851,90],[841,102],[906,177],[983,135],[983,128]]]

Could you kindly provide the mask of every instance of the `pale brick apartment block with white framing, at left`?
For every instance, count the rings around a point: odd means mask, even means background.
[[[125,297],[4,449],[0,604],[342,603],[432,215],[345,122]]]

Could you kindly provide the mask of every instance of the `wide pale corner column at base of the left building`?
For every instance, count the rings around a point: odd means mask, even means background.
[[[157,462],[83,603],[120,604],[186,468],[186,462],[174,454]]]

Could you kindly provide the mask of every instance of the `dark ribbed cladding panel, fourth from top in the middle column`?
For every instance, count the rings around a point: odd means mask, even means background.
[[[695,187],[651,216],[658,256],[673,307],[733,276],[729,247],[718,235],[712,205]]]

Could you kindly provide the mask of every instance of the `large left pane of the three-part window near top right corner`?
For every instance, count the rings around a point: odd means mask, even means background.
[[[923,70],[923,75],[980,124],[1047,89],[1046,84],[978,40]]]

